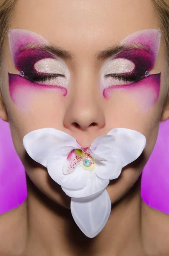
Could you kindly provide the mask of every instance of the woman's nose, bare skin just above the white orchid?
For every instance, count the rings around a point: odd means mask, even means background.
[[[80,76],[74,79],[70,88],[69,104],[66,107],[64,126],[75,134],[74,137],[89,135],[97,137],[105,125],[103,97],[98,82],[91,76]],[[86,133],[88,132],[88,133]],[[85,135],[84,135],[85,134]]]

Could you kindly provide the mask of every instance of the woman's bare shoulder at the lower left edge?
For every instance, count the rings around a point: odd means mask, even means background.
[[[0,215],[0,256],[22,253],[26,237],[24,204]]]

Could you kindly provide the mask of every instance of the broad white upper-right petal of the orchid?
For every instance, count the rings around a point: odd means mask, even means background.
[[[97,137],[90,150],[106,160],[111,157],[118,157],[122,161],[122,167],[124,167],[140,156],[145,145],[146,137],[140,132],[126,128],[115,128],[109,131],[107,135]]]

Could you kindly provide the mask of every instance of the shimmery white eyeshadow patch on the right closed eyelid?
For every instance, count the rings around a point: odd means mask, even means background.
[[[134,70],[135,64],[125,58],[108,59],[102,67],[101,73],[128,73]]]

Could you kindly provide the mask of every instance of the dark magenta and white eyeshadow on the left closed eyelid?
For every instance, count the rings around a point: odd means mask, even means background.
[[[49,81],[54,80],[55,83],[57,78],[57,83],[66,87],[65,80],[69,77],[66,64],[43,49],[23,50],[15,61],[15,67],[17,70],[22,70],[26,79],[32,82],[48,81],[47,83],[51,85]],[[61,79],[63,80],[61,82],[58,78],[65,79]]]

